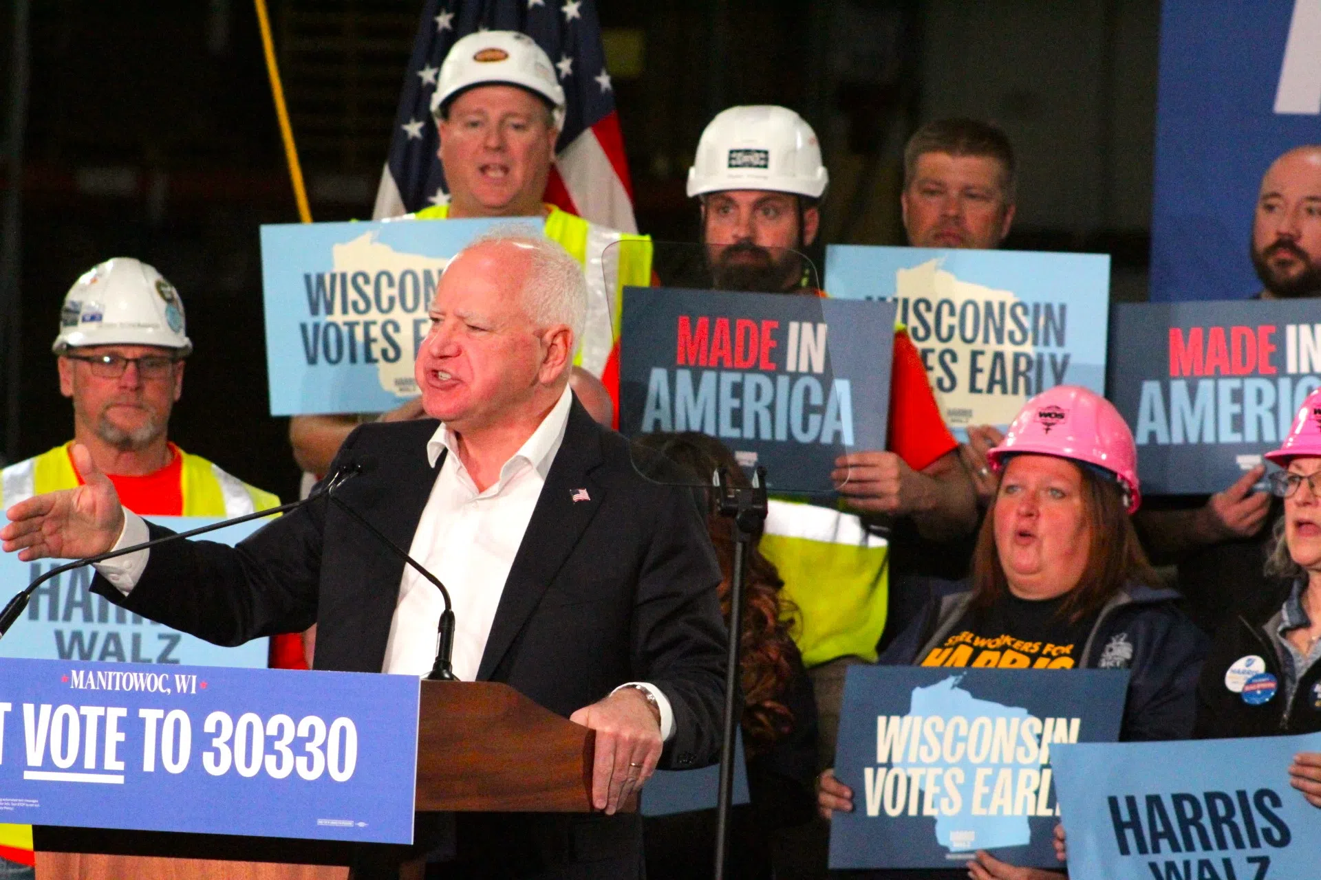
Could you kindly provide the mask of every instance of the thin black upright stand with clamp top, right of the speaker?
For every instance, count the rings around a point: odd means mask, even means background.
[[[729,578],[729,665],[725,669],[724,739],[720,743],[720,792],[716,798],[716,880],[724,880],[729,850],[729,806],[734,790],[734,738],[742,720],[738,686],[738,652],[742,640],[744,571],[748,548],[766,521],[766,468],[758,466],[750,487],[733,486],[729,471],[715,474],[720,515],[729,517],[734,537],[733,571]]]

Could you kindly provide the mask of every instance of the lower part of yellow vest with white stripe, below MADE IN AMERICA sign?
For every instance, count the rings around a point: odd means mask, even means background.
[[[791,632],[804,665],[876,660],[889,600],[885,538],[852,513],[771,499],[761,551],[798,610]]]

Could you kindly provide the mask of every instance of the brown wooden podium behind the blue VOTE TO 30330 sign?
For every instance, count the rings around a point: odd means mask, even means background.
[[[594,731],[509,685],[423,681],[413,809],[588,813],[594,744]],[[33,839],[37,880],[345,880],[365,848],[387,862],[416,856],[386,844],[49,825]]]

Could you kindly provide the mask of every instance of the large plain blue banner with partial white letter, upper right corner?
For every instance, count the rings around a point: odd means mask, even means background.
[[[1164,0],[1151,299],[1262,289],[1248,239],[1262,175],[1321,131],[1316,0]]]

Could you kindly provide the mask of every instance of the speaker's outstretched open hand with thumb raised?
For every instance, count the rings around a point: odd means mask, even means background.
[[[115,546],[124,528],[115,484],[96,468],[82,443],[74,443],[73,459],[82,486],[37,495],[5,511],[11,520],[0,529],[5,553],[17,550],[22,562],[48,557],[77,559]]]

